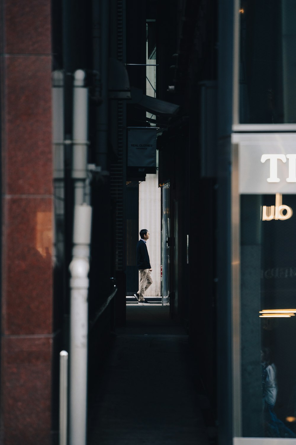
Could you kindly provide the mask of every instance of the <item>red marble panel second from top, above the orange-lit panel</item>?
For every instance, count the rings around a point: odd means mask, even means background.
[[[3,189],[51,194],[51,58],[5,57]]]

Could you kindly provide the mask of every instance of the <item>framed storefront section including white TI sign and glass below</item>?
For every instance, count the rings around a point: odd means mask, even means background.
[[[296,134],[232,141],[233,443],[292,445]]]

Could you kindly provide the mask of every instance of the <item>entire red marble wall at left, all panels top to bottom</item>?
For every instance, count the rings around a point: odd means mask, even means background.
[[[51,443],[51,2],[1,0],[1,445]]]

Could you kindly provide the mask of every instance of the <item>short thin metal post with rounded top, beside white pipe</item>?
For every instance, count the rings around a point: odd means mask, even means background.
[[[68,353],[59,353],[59,445],[67,445]]]

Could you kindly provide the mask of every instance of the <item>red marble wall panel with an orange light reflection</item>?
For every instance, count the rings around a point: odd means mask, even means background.
[[[52,199],[4,198],[5,334],[52,332]]]

